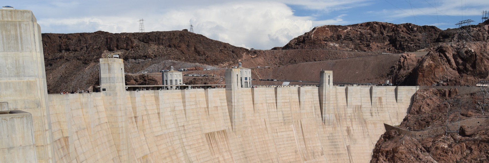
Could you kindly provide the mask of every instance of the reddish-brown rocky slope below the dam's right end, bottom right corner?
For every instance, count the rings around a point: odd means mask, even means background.
[[[461,100],[460,119],[489,118],[478,108],[477,87],[425,88],[414,101],[400,128],[424,131],[446,124],[446,100]],[[487,113],[487,108],[485,112]],[[371,163],[488,163],[489,120],[461,125],[460,135],[432,134],[423,139],[397,130],[384,133],[376,144]],[[442,129],[443,130],[443,129]]]

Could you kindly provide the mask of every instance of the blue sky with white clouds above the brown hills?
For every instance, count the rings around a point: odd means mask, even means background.
[[[457,28],[482,22],[489,0],[1,0],[32,10],[42,33],[189,29],[234,46],[271,49],[321,25],[369,21]]]

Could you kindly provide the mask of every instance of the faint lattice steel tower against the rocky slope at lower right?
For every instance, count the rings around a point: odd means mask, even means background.
[[[457,142],[460,128],[460,112],[462,110],[461,100],[447,100],[448,107],[446,108],[446,130],[445,135],[449,133],[457,133]]]

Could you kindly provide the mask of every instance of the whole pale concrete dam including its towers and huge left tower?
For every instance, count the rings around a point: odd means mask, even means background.
[[[418,90],[333,86],[332,71],[254,88],[241,67],[225,88],[127,91],[123,60],[104,58],[100,93],[48,95],[33,13],[0,10],[0,36],[0,163],[367,163]]]

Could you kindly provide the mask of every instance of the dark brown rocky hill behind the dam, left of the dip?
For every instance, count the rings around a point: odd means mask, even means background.
[[[159,72],[170,65],[218,66],[240,60],[247,49],[188,31],[42,34],[48,93],[98,85],[98,60],[120,55],[125,71]],[[165,64],[166,63],[166,64]],[[182,67],[183,68],[183,67]]]

